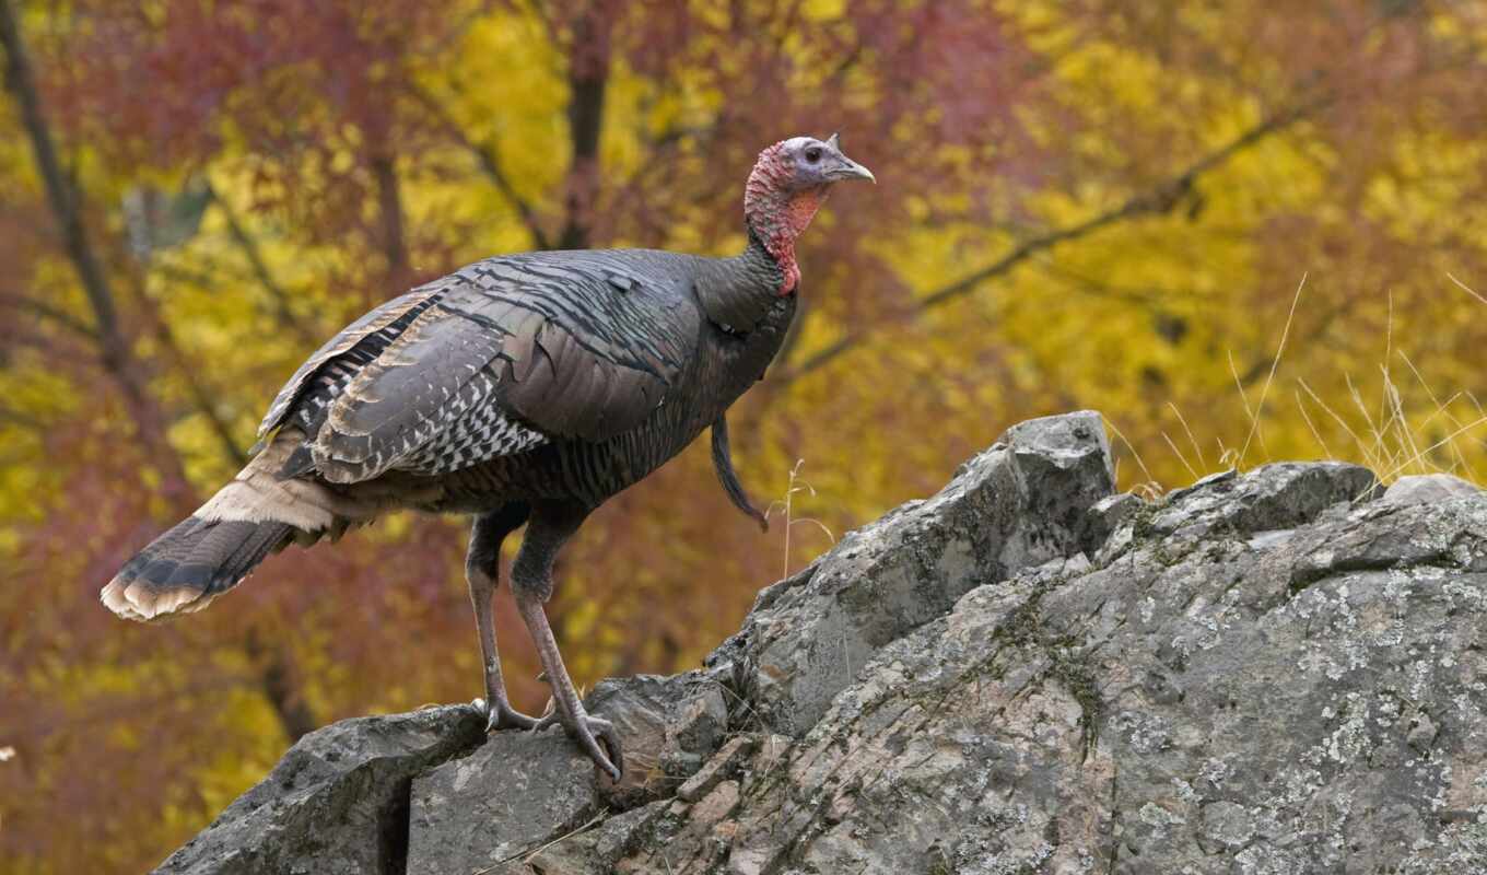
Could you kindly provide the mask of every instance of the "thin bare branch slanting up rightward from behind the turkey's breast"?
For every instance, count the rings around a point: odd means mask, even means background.
[[[1142,192],[1141,195],[1135,195],[1121,205],[1112,210],[1106,210],[1105,213],[1100,213],[1099,216],[1094,216],[1084,222],[1080,222],[1078,225],[1071,225],[1068,228],[1050,231],[1032,240],[1023,241],[1010,253],[992,262],[990,265],[986,265],[978,271],[972,271],[971,274],[967,274],[965,277],[961,277],[959,280],[947,286],[943,286],[940,289],[935,289],[934,292],[929,292],[928,295],[920,296],[915,302],[910,315],[919,315],[922,312],[926,312],[929,310],[943,307],[952,301],[964,298],[975,292],[987,280],[1010,274],[1025,260],[1030,259],[1032,256],[1041,251],[1050,250],[1059,246],[1060,243],[1069,243],[1072,240],[1088,237],[1097,231],[1102,231],[1111,225],[1117,225],[1127,219],[1135,219],[1139,216],[1160,216],[1170,213],[1193,190],[1193,186],[1194,183],[1197,183],[1199,177],[1221,167],[1222,164],[1234,158],[1234,155],[1239,155],[1240,152],[1264,140],[1265,137],[1283,131],[1291,125],[1294,125],[1295,122],[1310,116],[1313,112],[1326,106],[1329,100],[1331,100],[1329,97],[1320,97],[1303,103],[1285,113],[1271,116],[1259,122],[1254,128],[1245,131],[1243,134],[1231,140],[1228,144],[1225,144],[1222,149],[1218,149],[1200,158],[1194,164],[1188,165],[1182,173],[1173,176],[1172,179],[1164,180],[1154,189]],[[837,356],[842,356],[843,353],[848,353],[855,347],[858,347],[874,330],[874,327],[879,326],[868,326],[858,332],[846,335],[845,338],[839,339],[830,347],[825,347],[824,350],[812,354],[799,366],[782,371],[778,376],[773,378],[773,381],[776,384],[793,382],[794,379],[799,379],[800,376],[804,376],[806,374],[810,374],[812,371],[825,366]]]

